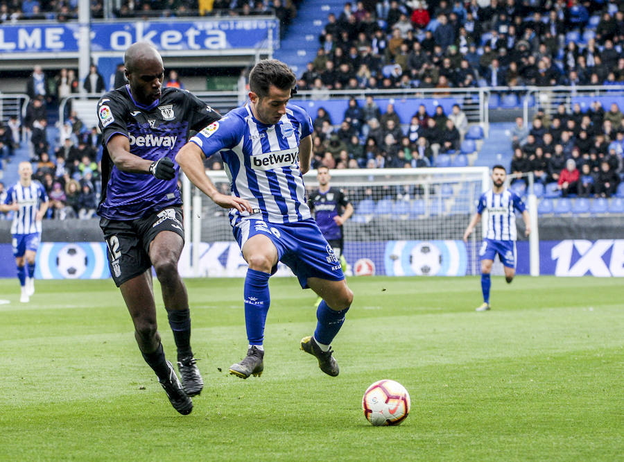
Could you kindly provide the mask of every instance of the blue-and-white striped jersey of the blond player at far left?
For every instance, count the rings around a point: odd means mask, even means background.
[[[37,221],[37,211],[42,203],[48,202],[48,194],[43,185],[33,180],[30,186],[22,186],[18,181],[6,191],[5,204],[18,203],[19,209],[13,212],[11,234],[31,234],[41,232],[41,221]]]

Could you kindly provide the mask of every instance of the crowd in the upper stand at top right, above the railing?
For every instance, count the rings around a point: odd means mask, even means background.
[[[319,40],[299,81],[316,92],[624,83],[616,0],[347,2]]]

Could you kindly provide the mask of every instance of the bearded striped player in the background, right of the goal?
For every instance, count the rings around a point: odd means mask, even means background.
[[[489,273],[492,272],[492,263],[497,254],[505,268],[505,280],[512,282],[516,274],[516,210],[522,214],[524,234],[528,236],[531,232],[530,218],[524,203],[514,191],[504,187],[506,177],[504,166],[492,167],[492,189],[481,194],[477,211],[464,233],[464,241],[467,242],[474,227],[481,220],[483,211],[487,210],[487,234],[479,250],[483,305],[477,307],[476,311],[489,309],[489,287],[492,284]]]

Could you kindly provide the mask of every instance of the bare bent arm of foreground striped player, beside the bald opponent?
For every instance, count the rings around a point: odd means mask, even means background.
[[[206,176],[203,159],[205,158],[202,150],[193,142],[189,142],[182,146],[182,149],[175,155],[175,161],[180,165],[180,169],[184,172],[191,183],[196,185],[206,196],[211,198],[216,205],[224,209],[237,209],[239,212],[252,213],[252,207],[248,200],[236,196],[227,196],[217,191],[216,187]]]

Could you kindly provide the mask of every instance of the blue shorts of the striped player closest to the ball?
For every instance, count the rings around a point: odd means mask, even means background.
[[[308,277],[330,281],[345,279],[340,258],[333,253],[313,219],[283,225],[247,219],[237,223],[232,231],[241,249],[256,234],[268,237],[277,248],[279,261],[293,270],[302,289],[308,288]],[[277,266],[272,268],[272,274],[275,271]]]

